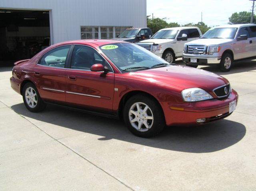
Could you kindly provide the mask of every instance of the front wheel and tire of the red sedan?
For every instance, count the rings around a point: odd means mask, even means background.
[[[149,138],[159,134],[165,127],[160,104],[145,95],[129,98],[124,106],[124,122],[132,134]]]

